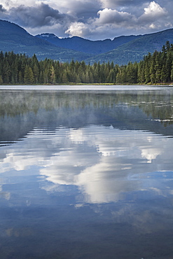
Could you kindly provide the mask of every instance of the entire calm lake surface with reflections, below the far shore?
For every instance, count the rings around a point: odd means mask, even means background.
[[[173,89],[32,88],[0,90],[0,258],[173,258]]]

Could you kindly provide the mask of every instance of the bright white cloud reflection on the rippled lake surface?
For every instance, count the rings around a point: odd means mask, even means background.
[[[55,188],[78,186],[83,202],[116,202],[137,190],[159,192],[161,183],[151,185],[149,174],[172,171],[172,153],[167,153],[172,149],[172,139],[165,139],[151,132],[94,125],[81,129],[62,127],[51,134],[35,129],[27,139],[6,148],[1,173],[14,176],[27,170],[25,175],[46,176]],[[12,169],[15,172],[11,173]]]

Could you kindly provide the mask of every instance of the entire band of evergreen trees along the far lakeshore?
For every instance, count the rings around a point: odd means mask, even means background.
[[[0,84],[114,83],[158,84],[173,81],[173,45],[148,53],[141,62],[119,66],[113,62],[86,64],[61,63],[53,59],[38,61],[36,55],[0,52]]]

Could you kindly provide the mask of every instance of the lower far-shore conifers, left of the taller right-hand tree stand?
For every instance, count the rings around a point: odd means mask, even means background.
[[[90,66],[84,61],[38,61],[36,55],[0,53],[0,84],[114,83],[116,71],[113,63]]]

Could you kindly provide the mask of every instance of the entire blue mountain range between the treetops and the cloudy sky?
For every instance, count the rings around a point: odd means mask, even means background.
[[[139,62],[148,52],[161,50],[166,41],[173,43],[173,29],[154,34],[119,36],[104,41],[90,41],[85,38],[58,38],[55,34],[32,36],[12,22],[0,20],[0,51],[36,54],[38,59],[57,59],[71,62],[72,59],[86,63],[114,62],[127,64]]]

